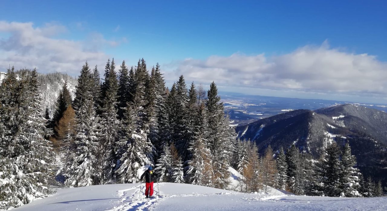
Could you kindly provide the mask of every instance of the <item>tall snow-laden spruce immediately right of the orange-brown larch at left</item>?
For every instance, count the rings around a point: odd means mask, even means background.
[[[89,186],[94,184],[96,174],[96,143],[98,122],[93,100],[94,79],[89,64],[84,64],[78,78],[73,107],[77,123],[74,138],[75,155],[63,167],[65,184],[72,187]]]

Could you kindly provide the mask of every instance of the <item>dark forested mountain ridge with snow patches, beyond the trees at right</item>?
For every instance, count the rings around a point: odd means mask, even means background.
[[[236,127],[238,138],[257,143],[263,153],[295,144],[319,158],[332,141],[349,142],[358,166],[367,176],[386,181],[387,113],[357,105],[337,105],[312,110],[294,110]]]

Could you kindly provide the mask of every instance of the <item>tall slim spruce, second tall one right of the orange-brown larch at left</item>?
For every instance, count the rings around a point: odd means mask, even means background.
[[[96,184],[109,184],[111,182],[113,169],[118,160],[116,158],[118,151],[116,142],[121,124],[117,118],[118,80],[114,59],[111,63],[109,60],[106,63],[104,77],[101,86],[101,133],[98,136],[98,152],[96,153],[96,162],[98,162]]]

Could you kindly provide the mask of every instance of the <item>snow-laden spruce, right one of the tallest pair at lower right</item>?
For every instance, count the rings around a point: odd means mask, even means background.
[[[360,172],[359,169],[354,168],[356,165],[356,157],[351,154],[351,147],[349,143],[344,145],[341,155],[341,175],[340,175],[340,189],[342,192],[340,196],[344,197],[359,197],[360,191]]]

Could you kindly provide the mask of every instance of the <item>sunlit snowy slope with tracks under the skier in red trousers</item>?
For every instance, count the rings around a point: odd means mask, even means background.
[[[139,187],[140,184],[113,184],[60,189],[50,197],[14,210],[387,210],[387,197],[291,196],[279,191],[276,191],[278,194],[239,193],[191,184],[160,183],[160,192],[155,184],[155,197],[146,199],[142,194],[144,184],[141,193]]]

